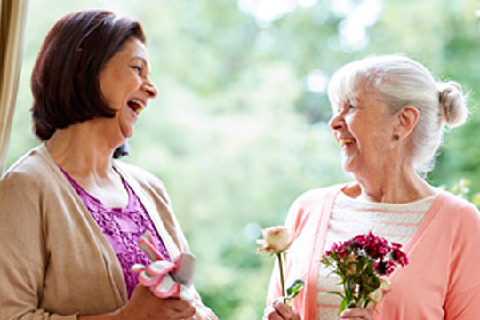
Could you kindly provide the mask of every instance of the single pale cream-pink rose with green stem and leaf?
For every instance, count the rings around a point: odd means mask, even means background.
[[[275,255],[278,259],[282,297],[284,303],[289,306],[290,300],[295,298],[305,286],[302,280],[296,280],[285,291],[283,260],[287,249],[290,248],[290,245],[292,244],[293,236],[288,232],[287,228],[283,226],[262,229],[261,233],[263,239],[257,240],[257,244],[261,245],[258,251],[270,253],[271,255]]]

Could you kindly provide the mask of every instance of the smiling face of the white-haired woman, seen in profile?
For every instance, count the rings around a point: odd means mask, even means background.
[[[388,167],[395,116],[369,87],[356,97],[333,106],[333,136],[341,148],[342,166],[354,175],[372,174]]]

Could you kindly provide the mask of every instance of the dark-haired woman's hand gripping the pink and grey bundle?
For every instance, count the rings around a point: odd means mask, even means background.
[[[129,302],[120,310],[124,320],[189,320],[196,308],[190,302],[178,298],[159,299],[142,285],[137,286]]]

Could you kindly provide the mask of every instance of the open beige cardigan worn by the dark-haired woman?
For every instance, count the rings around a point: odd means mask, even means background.
[[[188,251],[164,184],[130,164],[117,172],[139,196],[170,256]],[[72,320],[127,302],[122,269],[44,145],[0,180],[0,320]],[[197,298],[198,319],[216,319]]]

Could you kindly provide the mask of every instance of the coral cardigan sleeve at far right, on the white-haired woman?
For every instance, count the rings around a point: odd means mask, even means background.
[[[445,320],[480,319],[480,213],[460,204],[454,215],[450,278]]]

